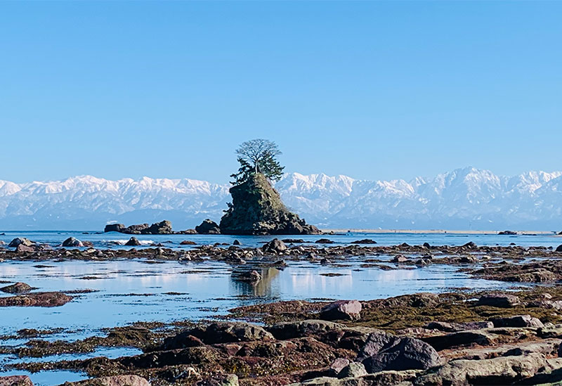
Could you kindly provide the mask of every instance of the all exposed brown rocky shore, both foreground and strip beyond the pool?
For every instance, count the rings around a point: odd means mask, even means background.
[[[78,245],[72,240],[71,245]],[[353,259],[375,269],[456,266],[474,278],[541,283],[527,290],[414,294],[384,300],[275,302],[230,310],[193,324],[136,323],[105,336],[67,342],[49,331],[20,330],[20,347],[0,353],[20,356],[10,368],[84,371],[95,381],[77,385],[540,385],[562,382],[562,246],[522,247],[377,245],[362,239],[338,245],[274,239],[261,247],[162,245],[131,250],[48,247],[15,239],[0,259],[22,261],[145,259],[148,262],[220,261],[236,280],[259,283],[264,267],[290,261],[345,266]],[[82,243],[82,245],[84,245]],[[25,248],[24,248],[25,247]],[[2,306],[63,307],[79,293],[41,292],[25,283],[0,288]],[[93,352],[96,347],[137,347],[143,354],[117,359],[30,362],[26,357]],[[119,377],[119,378],[115,378]],[[0,378],[0,385],[15,380]],[[12,383],[9,383],[12,382]],[[18,382],[28,380],[18,378]],[[20,383],[28,385],[28,383]],[[129,383],[125,383],[129,385]]]

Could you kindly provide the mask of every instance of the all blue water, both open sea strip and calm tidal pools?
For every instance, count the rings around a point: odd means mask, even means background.
[[[81,232],[6,232],[0,240],[9,242],[23,236],[40,243],[60,245],[74,236],[89,240],[96,247],[120,247],[117,242],[129,236],[119,233],[82,234]],[[272,237],[222,235],[137,236],[145,244],[163,243],[180,248],[181,240],[200,244],[232,243],[240,240],[244,246],[259,246]],[[361,238],[372,238],[380,245],[409,243],[417,245],[462,245],[473,241],[478,245],[544,245],[556,246],[561,238],[554,236],[497,236],[444,234],[365,234],[343,236],[303,236],[308,241],[327,237],[347,244]],[[418,269],[400,267],[391,271],[362,266],[369,257],[353,257],[344,266],[321,266],[307,261],[289,262],[284,270],[261,269],[263,280],[256,286],[240,283],[233,278],[234,267],[221,262],[162,262],[149,264],[143,260],[111,262],[12,262],[0,263],[0,280],[23,281],[39,290],[94,290],[77,295],[63,307],[2,307],[0,335],[13,335],[21,328],[63,328],[62,333],[49,335],[48,340],[75,340],[103,335],[102,328],[124,326],[136,321],[176,321],[210,319],[226,314],[228,309],[258,302],[277,300],[358,299],[370,300],[412,292],[443,292],[452,288],[500,289],[509,283],[476,280],[452,266],[426,266]],[[390,260],[391,257],[378,256]],[[322,274],[340,276],[323,276]],[[8,296],[0,292],[0,296]],[[25,340],[0,341],[0,345],[22,345]],[[128,351],[129,350],[129,351]],[[135,354],[136,349],[100,349],[93,354],[60,356],[40,360],[60,360],[103,355],[116,357]],[[6,371],[2,365],[13,363],[12,356],[0,356],[0,375],[20,374]],[[37,359],[24,359],[37,360]],[[37,385],[58,385],[65,380],[79,380],[84,374],[68,371],[47,371],[31,374]]]

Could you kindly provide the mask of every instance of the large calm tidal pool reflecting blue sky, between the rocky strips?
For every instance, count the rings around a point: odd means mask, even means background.
[[[348,266],[289,262],[284,270],[259,269],[257,285],[233,278],[228,264],[207,261],[148,264],[137,260],[112,262],[4,262],[3,281],[23,281],[41,291],[95,290],[76,295],[63,307],[1,307],[0,334],[20,328],[65,328],[73,337],[99,333],[100,328],[135,321],[205,319],[232,307],[276,300],[370,300],[412,292],[440,292],[448,288],[505,288],[506,283],[471,279],[451,266],[385,271],[362,268],[362,259]],[[236,267],[236,271],[251,266]],[[322,274],[340,276],[322,276]],[[8,296],[1,294],[0,296]],[[65,337],[69,338],[67,332]],[[51,338],[60,338],[53,335]]]

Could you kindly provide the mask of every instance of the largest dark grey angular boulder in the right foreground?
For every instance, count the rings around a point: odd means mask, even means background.
[[[368,373],[385,370],[426,370],[441,364],[431,345],[412,337],[396,337],[382,331],[371,333],[358,355]]]

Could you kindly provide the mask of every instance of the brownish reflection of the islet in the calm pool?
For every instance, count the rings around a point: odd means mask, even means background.
[[[261,275],[261,281],[257,283],[247,283],[237,280],[240,274],[255,269]],[[244,305],[244,297],[268,297],[276,300],[280,297],[278,288],[273,288],[273,279],[279,276],[279,269],[276,268],[252,268],[251,266],[239,266],[233,269],[230,275],[230,285],[233,288],[233,295],[239,296],[242,305]]]

